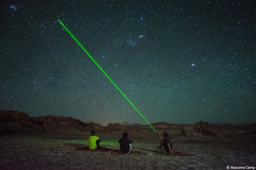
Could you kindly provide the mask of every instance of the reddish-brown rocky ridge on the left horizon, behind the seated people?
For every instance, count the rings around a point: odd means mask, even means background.
[[[122,125],[123,124],[123,125]],[[94,129],[97,133],[101,132],[128,132],[133,134],[135,137],[139,137],[141,134],[139,131],[142,129],[148,129],[144,126],[131,126],[128,122],[120,123],[109,123],[108,126],[101,126],[99,123],[89,122],[84,123],[79,119],[74,119],[65,116],[38,116],[29,117],[25,112],[14,111],[14,110],[0,110],[0,135],[16,133],[22,131],[32,132],[90,132]],[[125,126],[124,126],[125,125]],[[129,126],[129,127],[127,127]]]

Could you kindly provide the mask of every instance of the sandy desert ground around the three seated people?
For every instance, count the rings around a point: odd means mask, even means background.
[[[165,130],[166,131],[166,130]],[[129,136],[134,150],[146,155],[112,155],[83,152],[75,148],[87,145],[88,132],[18,133],[0,136],[0,169],[227,169],[256,167],[256,135],[243,132],[216,132],[217,138],[184,140],[178,130],[167,130],[174,151],[192,156],[156,155],[157,135],[151,131]],[[162,130],[159,130],[162,132]],[[119,149],[121,133],[98,134],[101,145]],[[231,168],[232,169],[232,168]]]

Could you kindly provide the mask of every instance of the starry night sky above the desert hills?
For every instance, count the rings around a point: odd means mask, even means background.
[[[253,7],[254,6],[254,7]],[[0,109],[84,122],[256,122],[255,1],[0,2]]]

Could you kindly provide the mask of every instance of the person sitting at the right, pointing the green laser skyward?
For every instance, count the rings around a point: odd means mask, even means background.
[[[168,132],[163,132],[163,133],[164,133],[164,138],[162,138],[161,135],[157,133],[159,135],[161,143],[159,148],[156,150],[156,152],[173,155],[173,143],[169,138]]]

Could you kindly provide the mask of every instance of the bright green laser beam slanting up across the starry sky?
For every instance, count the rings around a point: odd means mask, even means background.
[[[78,43],[78,45],[83,49],[84,52],[90,57],[90,59],[99,67],[99,69],[105,74],[106,77],[109,78],[110,82],[119,90],[119,92],[126,98],[127,101],[133,106],[133,108],[138,112],[138,114],[141,115],[141,117],[147,122],[148,125],[156,132],[156,130],[151,126],[151,124],[146,120],[146,118],[141,114],[140,111],[133,105],[133,103],[124,95],[124,93],[121,91],[121,89],[111,80],[111,78],[108,76],[108,74],[105,73],[105,71],[101,68],[101,66],[92,58],[92,56],[87,52],[87,50],[82,46],[82,44],[74,37],[74,35],[69,31],[69,29],[63,24],[63,22],[58,18],[58,21],[60,22],[60,25],[62,25],[63,28],[66,29],[66,31],[69,33],[69,35]]]

